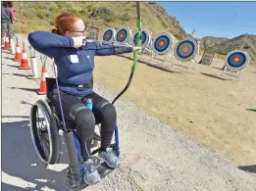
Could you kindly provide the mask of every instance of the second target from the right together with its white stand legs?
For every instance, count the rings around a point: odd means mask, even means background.
[[[172,71],[175,67],[184,69],[185,74],[190,70],[197,71],[197,62],[194,58],[199,51],[198,44],[193,37],[185,37],[177,43],[175,47],[175,62],[172,66]],[[186,64],[186,62],[189,62]]]

